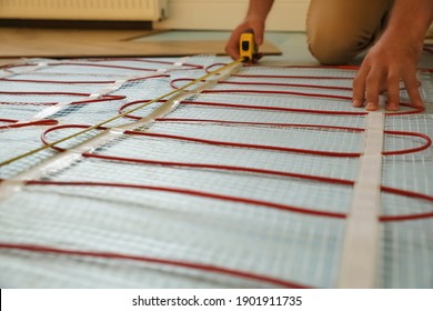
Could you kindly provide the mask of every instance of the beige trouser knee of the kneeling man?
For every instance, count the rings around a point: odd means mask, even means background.
[[[324,64],[343,64],[383,31],[393,0],[311,0],[306,18],[311,53]]]

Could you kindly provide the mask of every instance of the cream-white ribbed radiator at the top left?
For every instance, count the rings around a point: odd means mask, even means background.
[[[0,0],[0,19],[160,21],[168,0]]]

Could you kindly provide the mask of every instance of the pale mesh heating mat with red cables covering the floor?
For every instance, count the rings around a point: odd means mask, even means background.
[[[351,106],[355,71],[229,62],[1,68],[0,287],[338,288],[370,114]],[[379,112],[376,288],[433,288],[431,70],[419,79],[425,110]]]

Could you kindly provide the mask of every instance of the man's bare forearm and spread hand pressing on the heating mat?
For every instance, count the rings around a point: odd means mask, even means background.
[[[400,106],[403,81],[410,103],[423,107],[416,79],[425,32],[433,20],[433,0],[395,0],[385,31],[371,48],[353,81],[353,106],[376,110],[386,91],[386,109]]]

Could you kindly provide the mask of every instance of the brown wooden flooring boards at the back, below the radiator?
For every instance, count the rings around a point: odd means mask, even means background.
[[[1,62],[11,58],[177,57],[224,54],[225,40],[135,40],[161,30],[71,30],[0,28]],[[281,52],[271,43],[265,54]],[[0,64],[1,64],[0,62]]]

